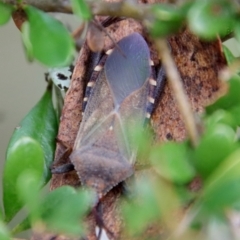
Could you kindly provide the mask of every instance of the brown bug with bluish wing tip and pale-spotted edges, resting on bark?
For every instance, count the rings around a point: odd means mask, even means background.
[[[97,66],[85,98],[86,107],[70,160],[81,183],[99,198],[133,174],[136,151],[125,126],[144,124],[152,79],[150,52],[133,33],[118,42],[106,62]],[[97,74],[96,74],[97,72]],[[96,77],[97,76],[97,77]],[[151,102],[150,104],[153,104]]]

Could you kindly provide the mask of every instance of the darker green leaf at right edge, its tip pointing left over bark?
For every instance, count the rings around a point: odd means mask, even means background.
[[[218,99],[214,104],[208,106],[206,111],[208,114],[218,110],[219,108],[229,111],[232,107],[240,105],[240,77],[233,76],[229,81],[228,93]]]

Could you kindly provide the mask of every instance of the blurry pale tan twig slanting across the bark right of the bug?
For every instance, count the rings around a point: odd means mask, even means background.
[[[184,91],[181,77],[177,70],[174,60],[171,57],[168,44],[164,39],[155,39],[155,46],[165,67],[168,81],[176,98],[180,113],[182,114],[183,122],[189,134],[193,146],[198,144],[199,136],[194,115],[191,110],[191,105]]]

